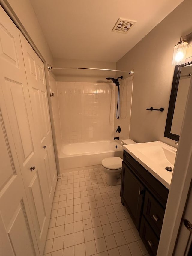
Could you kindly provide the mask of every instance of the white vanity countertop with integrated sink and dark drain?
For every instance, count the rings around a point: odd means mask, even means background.
[[[163,185],[170,188],[173,172],[165,168],[174,167],[176,148],[161,141],[124,145],[123,148]]]

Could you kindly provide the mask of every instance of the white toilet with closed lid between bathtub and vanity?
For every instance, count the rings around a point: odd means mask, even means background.
[[[126,139],[122,140],[123,145],[136,144],[137,142]],[[121,171],[122,171],[122,161],[119,156],[118,157],[108,157],[104,158],[101,161],[101,170],[106,173],[106,182],[110,186],[116,186],[121,184]]]

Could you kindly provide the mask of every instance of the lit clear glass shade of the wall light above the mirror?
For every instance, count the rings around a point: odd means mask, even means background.
[[[188,42],[181,41],[174,47],[173,63],[172,63],[173,66],[181,65],[185,62],[187,44]]]

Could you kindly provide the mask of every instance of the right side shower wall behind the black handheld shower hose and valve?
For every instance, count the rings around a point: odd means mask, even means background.
[[[117,113],[117,97],[118,87],[116,86],[115,92],[115,111],[114,111],[114,137],[119,137],[119,143],[123,139],[129,138],[129,127],[131,118],[131,101],[133,89],[134,76],[128,77],[124,80],[119,79],[120,83],[120,115],[119,119],[116,118]],[[121,132],[116,133],[117,127],[121,127]]]

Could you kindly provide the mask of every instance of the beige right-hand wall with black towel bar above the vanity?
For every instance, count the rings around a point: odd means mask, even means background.
[[[117,69],[134,68],[130,138],[137,142],[162,140],[173,80],[173,47],[192,30],[192,1],[184,0],[145,38],[117,62]],[[125,75],[124,75],[125,77]],[[164,107],[164,112],[146,108]]]

